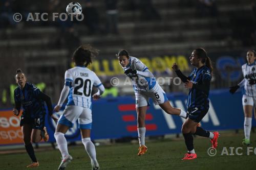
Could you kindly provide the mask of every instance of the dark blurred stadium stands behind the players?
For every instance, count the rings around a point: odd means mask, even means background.
[[[29,81],[51,95],[57,102],[66,69],[72,67],[71,57],[81,44],[90,43],[100,50],[97,58],[101,72],[113,69],[115,54],[125,48],[135,57],[152,59],[160,56],[180,55],[187,58],[196,47],[204,47],[214,61],[219,54],[246,57],[246,50],[256,45],[256,2],[251,0],[79,0],[84,19],[82,21],[52,20],[53,13],[65,13],[69,1],[18,1],[0,2],[0,85],[1,108],[13,104],[14,74],[22,68]],[[48,21],[26,21],[30,13],[48,13]],[[15,22],[13,14],[20,13],[23,20]],[[232,55],[231,55],[232,54]],[[216,59],[215,59],[216,57]],[[105,62],[107,60],[108,62]],[[175,60],[173,60],[174,62]],[[243,60],[245,62],[246,60]],[[106,64],[107,63],[107,64]],[[242,62],[241,62],[242,63]],[[241,63],[225,67],[229,71],[241,71]],[[157,63],[158,64],[158,63]],[[152,64],[153,65],[153,64]],[[93,67],[96,68],[96,67]],[[157,66],[156,66],[157,68]],[[153,71],[157,76],[173,76],[170,68]],[[185,69],[185,72],[190,69]],[[222,82],[216,70],[214,81]],[[97,74],[97,70],[95,70]],[[98,70],[99,72],[99,70]],[[131,94],[133,91],[113,87],[110,79],[122,75],[101,74],[109,94]],[[212,88],[227,88],[238,82],[226,79],[226,83]],[[124,79],[124,76],[120,76]],[[132,88],[132,87],[131,87]],[[168,92],[179,88],[169,86]]]

